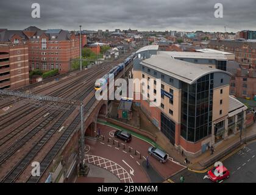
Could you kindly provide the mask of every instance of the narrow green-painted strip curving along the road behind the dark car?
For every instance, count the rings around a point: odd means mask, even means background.
[[[135,132],[133,132],[131,130],[128,130],[128,129],[124,128],[124,127],[119,127],[119,126],[116,126],[115,124],[111,124],[110,122],[102,121],[102,120],[99,120],[99,119],[97,120],[97,122],[99,124],[103,124],[103,125],[108,126],[108,127],[113,127],[114,129],[117,129],[117,130],[126,130],[127,132],[131,133],[134,137],[137,137],[138,139],[146,141],[147,143],[151,144],[151,146],[158,147],[158,148],[162,149],[162,147],[158,146],[158,144],[155,143],[155,141],[153,141],[153,140],[151,140],[149,138],[146,138],[143,135],[135,133]]]

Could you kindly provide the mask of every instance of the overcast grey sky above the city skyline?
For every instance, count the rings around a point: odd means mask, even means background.
[[[40,4],[41,18],[31,5]],[[222,3],[224,18],[214,5]],[[237,32],[256,30],[256,0],[7,0],[0,1],[0,28],[138,29]]]

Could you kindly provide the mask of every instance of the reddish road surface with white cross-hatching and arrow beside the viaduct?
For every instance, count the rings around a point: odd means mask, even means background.
[[[150,143],[137,137],[132,137],[130,143],[125,143],[113,137],[116,129],[98,124],[104,140],[85,140],[87,147],[85,159],[87,163],[108,169],[121,182],[163,182],[168,177],[180,171],[184,167],[177,165],[171,158],[162,164],[148,155]],[[119,142],[119,145],[118,145]],[[115,143],[115,144],[113,144]],[[129,149],[130,147],[130,149]],[[135,154],[136,149],[136,154]],[[149,156],[149,168],[146,167],[146,158]]]

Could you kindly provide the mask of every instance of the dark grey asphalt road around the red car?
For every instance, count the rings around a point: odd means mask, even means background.
[[[256,183],[256,141],[248,143],[226,160],[222,161],[230,171],[229,179],[222,180],[224,183]],[[180,176],[185,177],[185,183],[209,183],[205,173],[196,173],[185,169],[170,179],[180,182]],[[204,178],[205,177],[205,178]]]

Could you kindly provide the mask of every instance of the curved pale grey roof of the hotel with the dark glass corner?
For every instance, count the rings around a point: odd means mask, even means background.
[[[155,69],[160,73],[167,74],[189,84],[196,82],[200,77],[210,73],[232,75],[226,71],[210,68],[209,66],[172,59],[172,57],[168,55],[152,55],[150,59],[141,62],[141,65]]]

